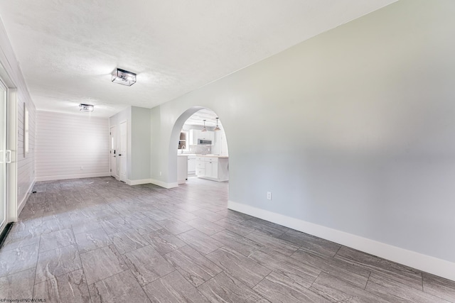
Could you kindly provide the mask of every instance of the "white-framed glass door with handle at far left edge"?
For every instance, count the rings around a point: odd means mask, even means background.
[[[6,150],[6,86],[0,80],[0,232],[6,226],[6,164],[11,151]]]

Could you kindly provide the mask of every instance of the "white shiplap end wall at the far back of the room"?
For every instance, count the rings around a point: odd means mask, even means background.
[[[36,180],[110,175],[109,119],[36,113]]]

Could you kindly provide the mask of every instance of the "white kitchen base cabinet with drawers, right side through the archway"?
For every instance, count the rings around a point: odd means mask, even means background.
[[[229,180],[228,157],[198,156],[196,157],[196,175],[214,181]]]

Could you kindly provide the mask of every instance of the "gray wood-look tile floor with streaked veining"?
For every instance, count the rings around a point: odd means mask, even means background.
[[[228,210],[228,183],[34,190],[0,250],[3,299],[455,302],[455,282]]]

